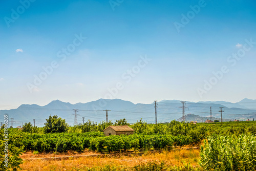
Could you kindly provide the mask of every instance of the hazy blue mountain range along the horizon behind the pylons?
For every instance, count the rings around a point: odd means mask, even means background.
[[[131,101],[124,101],[121,99],[99,99],[88,103],[71,104],[69,102],[62,102],[54,100],[45,106],[37,104],[22,104],[17,109],[0,110],[0,116],[8,114],[9,125],[13,119],[13,126],[22,125],[25,122],[31,122],[35,119],[36,126],[44,126],[46,118],[50,115],[57,115],[66,119],[69,125],[74,124],[74,110],[77,112],[77,123],[83,123],[87,120],[100,122],[106,120],[106,112],[108,111],[108,120],[115,122],[118,119],[125,118],[129,123],[134,123],[140,118],[147,123],[155,123],[155,104],[134,104]],[[194,114],[201,117],[209,117],[210,106],[212,109],[212,116],[220,118],[220,109],[223,107],[223,118],[225,119],[239,119],[246,120],[247,118],[256,118],[256,100],[243,99],[237,103],[226,101],[200,101],[200,102],[186,102],[185,114]],[[182,104],[180,100],[162,100],[157,102],[157,121],[169,122],[177,120],[182,115]],[[4,121],[4,120],[2,120]],[[197,120],[196,120],[197,121]],[[199,122],[202,121],[198,120]]]

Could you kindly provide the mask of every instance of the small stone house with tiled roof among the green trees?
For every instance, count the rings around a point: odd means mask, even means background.
[[[106,127],[106,129],[103,130],[103,132],[105,136],[121,135],[121,134],[131,135],[133,134],[134,130],[127,125],[122,125],[122,126],[108,126]]]

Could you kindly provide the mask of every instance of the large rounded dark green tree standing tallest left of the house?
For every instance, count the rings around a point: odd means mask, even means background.
[[[68,131],[68,123],[65,119],[58,118],[57,115],[49,116],[46,119],[44,126],[44,133],[65,133]]]

